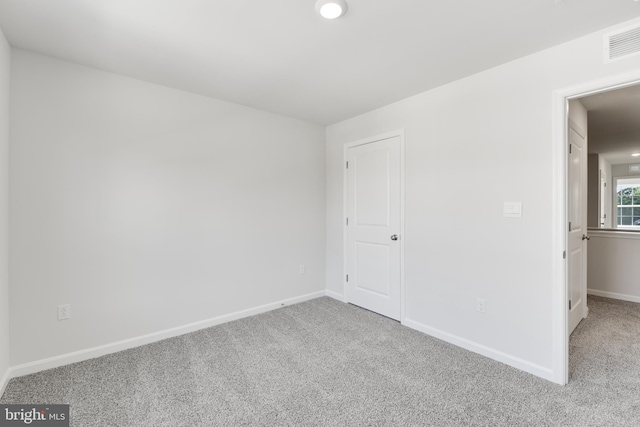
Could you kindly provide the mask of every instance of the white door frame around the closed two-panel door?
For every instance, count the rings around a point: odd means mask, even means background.
[[[348,181],[346,163],[349,158],[349,149],[358,145],[370,144],[382,139],[400,138],[400,323],[404,323],[405,319],[405,294],[404,294],[404,242],[406,234],[404,232],[404,129],[397,129],[380,135],[359,139],[357,141],[344,144],[342,152],[342,295],[344,301],[347,301],[347,224],[348,216]]]

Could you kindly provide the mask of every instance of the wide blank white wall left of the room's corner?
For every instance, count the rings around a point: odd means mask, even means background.
[[[324,292],[323,127],[12,54],[12,366]]]

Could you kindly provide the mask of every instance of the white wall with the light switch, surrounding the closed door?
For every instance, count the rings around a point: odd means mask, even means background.
[[[604,64],[602,37],[594,33],[330,126],[327,289],[343,294],[343,144],[404,128],[405,324],[558,380],[554,91],[640,67],[638,56]],[[522,201],[523,217],[504,218],[505,201]],[[486,299],[485,314],[476,311],[478,297]]]

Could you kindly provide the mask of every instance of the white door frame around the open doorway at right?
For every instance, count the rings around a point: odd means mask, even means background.
[[[568,247],[568,101],[598,92],[620,89],[640,84],[640,71],[612,76],[565,88],[553,93],[553,229],[552,275],[553,275],[553,381],[569,382],[569,282],[567,261],[563,254]]]

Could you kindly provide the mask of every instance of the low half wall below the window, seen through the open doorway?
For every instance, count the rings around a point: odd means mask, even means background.
[[[589,231],[588,292],[640,302],[640,233]]]

